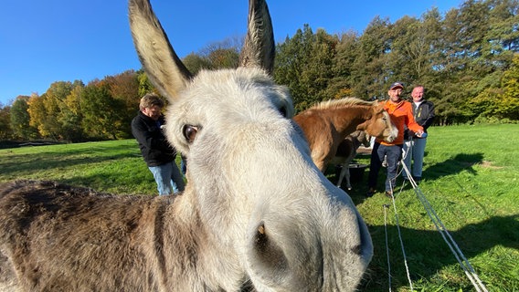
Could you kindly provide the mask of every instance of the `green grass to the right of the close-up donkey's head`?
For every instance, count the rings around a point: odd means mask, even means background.
[[[519,291],[519,127],[482,125],[429,130],[422,183],[441,222],[489,291]],[[368,164],[368,158],[358,162]],[[379,189],[386,173],[381,171]],[[365,218],[375,256],[362,291],[387,291],[387,248],[392,289],[410,291],[391,200],[382,193],[366,199],[367,173],[349,192]],[[417,291],[475,291],[436,230],[416,193],[402,181],[396,209],[409,274]]]

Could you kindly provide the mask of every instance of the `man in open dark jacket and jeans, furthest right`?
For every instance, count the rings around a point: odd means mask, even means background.
[[[415,120],[427,133],[427,129],[434,120],[434,104],[424,98],[424,88],[421,85],[413,89],[411,97],[413,98],[412,106]],[[425,137],[418,137],[413,131],[406,130],[404,136],[404,162],[413,179],[418,183],[422,178],[423,157],[425,145],[427,144],[427,135],[425,135]],[[412,168],[411,160],[413,160]],[[404,179],[408,179],[408,173],[403,172],[402,176]]]

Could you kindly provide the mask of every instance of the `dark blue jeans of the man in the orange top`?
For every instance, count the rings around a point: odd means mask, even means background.
[[[378,172],[382,167],[384,156],[387,161],[387,177],[386,177],[386,192],[392,192],[395,188],[397,181],[397,169],[398,162],[402,158],[402,145],[386,146],[378,142],[373,145],[373,151],[371,151],[371,162],[369,164],[369,177],[368,184],[369,188],[376,189],[376,180]]]

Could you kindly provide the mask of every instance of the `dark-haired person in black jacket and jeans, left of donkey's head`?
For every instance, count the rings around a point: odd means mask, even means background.
[[[154,174],[160,195],[184,191],[184,179],[175,164],[176,150],[165,139],[164,100],[146,94],[139,104],[139,113],[132,120],[132,134],[139,142],[144,162]]]

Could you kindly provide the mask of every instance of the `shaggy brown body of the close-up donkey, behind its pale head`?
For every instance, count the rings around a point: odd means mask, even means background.
[[[154,243],[172,200],[51,182],[1,185],[0,291],[156,290],[164,269]]]

